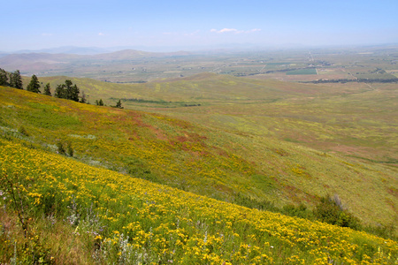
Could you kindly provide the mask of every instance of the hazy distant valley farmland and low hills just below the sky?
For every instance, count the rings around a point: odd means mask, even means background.
[[[356,79],[356,74],[369,74],[377,69],[389,74],[398,70],[397,58],[398,51],[394,46],[175,53],[123,50],[93,56],[10,55],[0,57],[0,65],[10,72],[19,69],[27,76],[65,75],[113,83],[182,78],[202,72],[308,82]],[[316,69],[316,72],[310,69]],[[376,79],[386,78],[387,75],[376,76]]]

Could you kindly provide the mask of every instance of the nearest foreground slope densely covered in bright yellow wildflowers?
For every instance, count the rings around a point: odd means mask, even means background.
[[[57,259],[76,241],[83,242],[85,262],[99,264],[398,261],[398,244],[389,239],[216,201],[23,142],[1,139],[0,159],[1,210],[19,213],[22,220],[14,225],[23,222],[27,231],[26,238],[18,237],[2,223],[2,262],[73,262]],[[52,244],[59,223],[69,234],[63,235],[64,242]],[[38,246],[46,251],[38,253]]]

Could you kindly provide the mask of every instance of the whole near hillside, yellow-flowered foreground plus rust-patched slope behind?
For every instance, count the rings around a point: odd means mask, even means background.
[[[0,167],[2,263],[398,262],[394,240],[236,205],[332,192],[394,222],[394,167],[271,137],[0,87]]]

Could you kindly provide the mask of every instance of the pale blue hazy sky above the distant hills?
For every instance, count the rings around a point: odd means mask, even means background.
[[[1,0],[0,51],[398,43],[398,0]]]

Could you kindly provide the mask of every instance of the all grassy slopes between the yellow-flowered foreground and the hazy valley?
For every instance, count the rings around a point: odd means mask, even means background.
[[[240,82],[251,99],[238,94]],[[220,91],[226,84],[229,91]],[[272,90],[276,84],[279,89]],[[151,99],[167,95],[165,102],[172,98],[191,102],[188,95],[197,101],[197,93],[207,94],[201,106],[125,105],[153,114],[68,101],[57,105],[50,97],[4,88],[0,123],[13,130],[23,125],[48,148],[58,141],[72,142],[75,156],[86,163],[219,200],[233,201],[234,194],[240,193],[279,206],[292,202],[311,206],[314,198],[337,193],[365,223],[393,223],[397,203],[394,90],[346,87],[341,93],[337,92],[341,87],[332,92],[333,86],[326,86],[325,98],[314,99],[312,95],[320,93],[318,85],[282,85],[212,74],[182,85],[180,80],[151,87],[119,85],[120,91],[128,93],[135,87],[135,95],[145,92]],[[348,88],[354,93],[348,93]],[[356,105],[358,95],[361,103]],[[379,116],[365,115],[370,107],[375,110],[372,115]],[[362,134],[355,138],[354,133]]]

